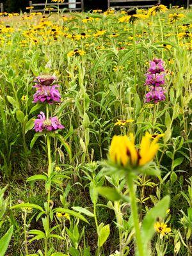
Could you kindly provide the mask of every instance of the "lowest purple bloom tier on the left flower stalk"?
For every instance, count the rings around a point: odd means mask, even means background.
[[[60,121],[58,120],[57,116],[45,118],[44,112],[40,112],[40,115],[37,116],[38,118],[34,121],[34,128],[36,132],[42,131],[56,131],[58,129],[65,128],[61,125]]]

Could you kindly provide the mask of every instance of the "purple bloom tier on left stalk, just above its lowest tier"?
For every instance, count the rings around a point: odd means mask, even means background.
[[[52,86],[35,84],[35,86],[33,86],[33,87],[37,88],[36,93],[33,95],[33,100],[35,103],[36,102],[47,102],[49,104],[52,104],[54,102],[61,101],[60,92],[56,89],[59,87],[58,84],[55,84]]]

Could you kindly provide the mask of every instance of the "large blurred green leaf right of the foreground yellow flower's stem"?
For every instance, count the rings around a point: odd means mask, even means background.
[[[169,204],[170,196],[164,196],[164,198],[159,201],[152,209],[150,209],[150,211],[148,211],[145,215],[142,225],[142,243],[145,244],[146,248],[148,242],[150,241],[150,239],[152,239],[152,236],[154,235],[154,224],[157,221],[157,218],[164,218],[164,216],[166,215],[166,211],[168,210]]]

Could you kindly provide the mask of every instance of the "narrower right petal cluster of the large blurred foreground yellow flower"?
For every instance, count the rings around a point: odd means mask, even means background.
[[[157,150],[159,149],[159,145],[157,144],[158,136],[151,141],[152,135],[148,132],[143,136],[140,143],[140,159],[139,165],[147,164],[152,161],[154,156],[156,156]]]

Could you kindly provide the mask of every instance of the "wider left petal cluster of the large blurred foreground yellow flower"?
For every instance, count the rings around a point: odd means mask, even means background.
[[[134,136],[129,137],[113,136],[111,146],[109,148],[109,159],[113,163],[122,164],[123,166],[135,166],[138,163],[138,152],[134,147]]]

